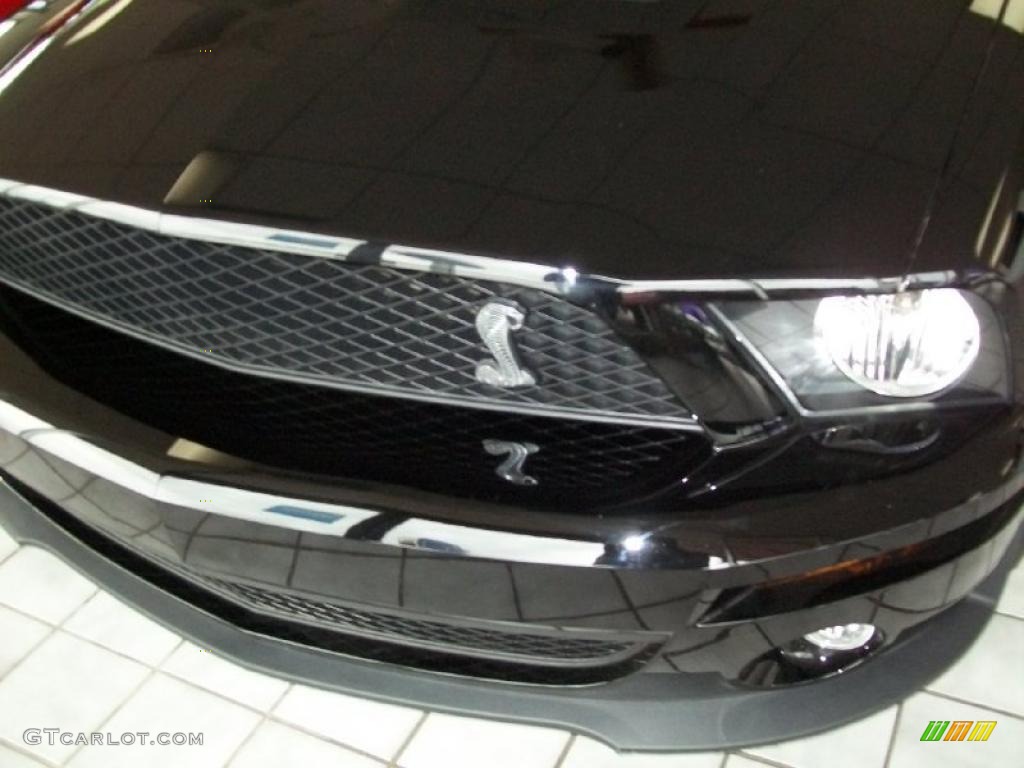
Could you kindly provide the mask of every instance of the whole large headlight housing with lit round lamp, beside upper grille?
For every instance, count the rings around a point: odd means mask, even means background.
[[[1010,396],[1002,326],[992,305],[970,291],[727,301],[715,308],[808,412]]]

